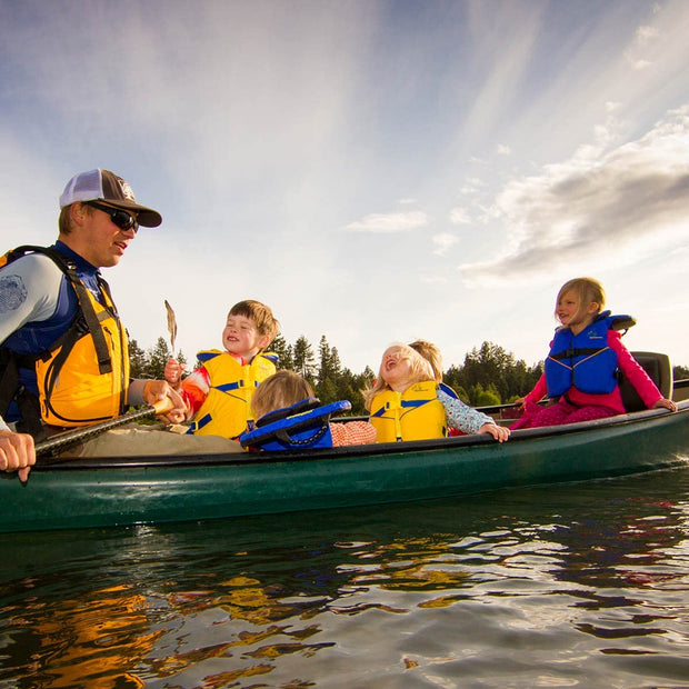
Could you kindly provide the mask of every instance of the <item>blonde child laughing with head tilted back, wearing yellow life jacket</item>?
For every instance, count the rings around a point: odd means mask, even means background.
[[[467,433],[490,433],[502,442],[509,430],[439,389],[431,365],[407,344],[392,344],[382,356],[378,379],[366,392],[366,408],[378,442],[447,436],[448,422]]]

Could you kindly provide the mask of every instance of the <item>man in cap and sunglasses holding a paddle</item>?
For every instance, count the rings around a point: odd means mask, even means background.
[[[117,266],[139,226],[158,227],[160,213],[101,169],[74,176],[60,208],[52,247],[20,247],[0,259],[0,470],[18,470],[21,480],[36,462],[33,439],[47,429],[90,426],[166,398],[168,421],[184,413],[164,380],[129,380],[127,332],[99,271]],[[112,446],[116,431],[108,433],[110,440],[86,446],[98,447],[97,455],[127,453]],[[170,451],[154,445],[157,453]]]

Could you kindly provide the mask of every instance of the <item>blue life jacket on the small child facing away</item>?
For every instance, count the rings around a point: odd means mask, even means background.
[[[321,406],[319,399],[310,397],[262,416],[253,430],[241,433],[239,442],[260,450],[331,448],[330,415],[348,409],[351,402],[347,400]]]

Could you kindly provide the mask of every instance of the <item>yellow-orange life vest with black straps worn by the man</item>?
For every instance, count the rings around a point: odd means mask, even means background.
[[[67,332],[36,358],[41,418],[53,426],[90,426],[122,415],[129,388],[129,343],[107,282],[98,284],[106,306],[86,288],[67,257],[42,247],[69,278],[79,299]],[[10,252],[13,253],[13,252]]]

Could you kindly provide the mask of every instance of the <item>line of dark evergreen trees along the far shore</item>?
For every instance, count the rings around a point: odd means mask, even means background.
[[[352,416],[365,416],[362,391],[370,387],[377,371],[370,367],[353,373],[342,366],[337,347],[330,347],[321,336],[318,351],[304,336],[289,343],[279,334],[270,346],[279,359],[279,369],[301,373],[323,403],[349,400]],[[129,359],[133,378],[163,378],[167,360],[172,356],[166,338],[158,338],[156,346],[143,351],[131,340]],[[180,352],[178,360],[188,363]],[[443,373],[445,382],[458,397],[472,407],[491,407],[513,402],[536,385],[543,371],[542,361],[528,366],[522,359],[493,342],[485,341],[465,356],[462,365],[451,365]],[[676,380],[689,378],[689,368],[676,366]]]

